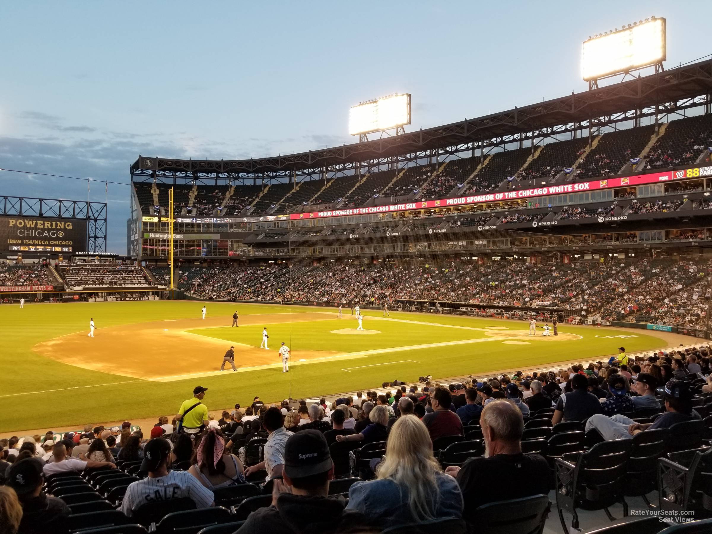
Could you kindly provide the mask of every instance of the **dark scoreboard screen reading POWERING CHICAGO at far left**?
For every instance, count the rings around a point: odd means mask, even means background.
[[[24,247],[58,247],[61,251],[85,251],[87,221],[46,217],[0,216],[0,246],[4,250]]]

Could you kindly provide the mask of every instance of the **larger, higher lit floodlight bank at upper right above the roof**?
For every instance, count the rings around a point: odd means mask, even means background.
[[[651,19],[583,42],[581,73],[586,81],[628,73],[666,60],[665,19]]]

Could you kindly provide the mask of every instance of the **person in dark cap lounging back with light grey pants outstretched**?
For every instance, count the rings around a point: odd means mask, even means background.
[[[609,441],[632,438],[644,430],[667,429],[676,423],[700,419],[699,414],[692,409],[692,397],[688,384],[680,380],[670,380],[665,384],[663,393],[666,412],[656,417],[654,422],[642,424],[621,414],[613,417],[597,414],[586,422],[586,431],[596,429],[605,440]]]

